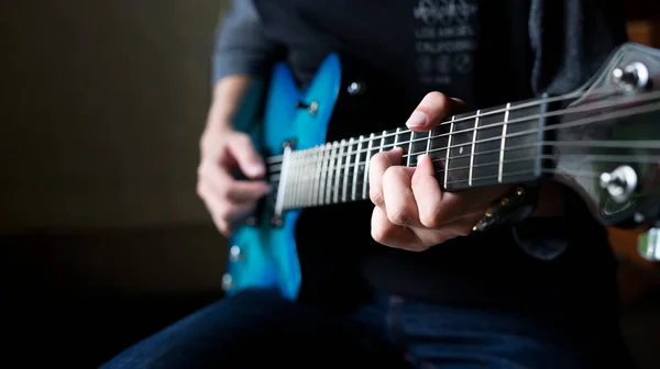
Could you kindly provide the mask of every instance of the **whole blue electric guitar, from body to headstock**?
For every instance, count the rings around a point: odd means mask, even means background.
[[[351,136],[351,124],[332,124],[382,111],[377,119],[404,122],[411,110],[387,115],[392,90],[380,83],[338,55],[305,91],[284,64],[275,66],[262,123],[240,127],[267,153],[273,191],[230,239],[229,294],[262,287],[295,299],[304,278],[295,228],[304,209],[369,200],[370,157],[394,147],[408,167],[429,154],[447,191],[552,180],[580,194],[604,225],[658,219],[660,51],[625,44],[571,93],[454,115],[430,132],[394,126]]]

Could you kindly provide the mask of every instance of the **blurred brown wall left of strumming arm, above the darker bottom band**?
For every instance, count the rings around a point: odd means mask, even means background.
[[[3,4],[1,228],[208,222],[197,139],[226,2]]]

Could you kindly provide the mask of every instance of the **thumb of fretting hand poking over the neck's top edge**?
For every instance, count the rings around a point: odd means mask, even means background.
[[[415,109],[406,125],[411,131],[429,131],[447,116],[465,110],[462,101],[450,99],[441,92],[429,92]]]

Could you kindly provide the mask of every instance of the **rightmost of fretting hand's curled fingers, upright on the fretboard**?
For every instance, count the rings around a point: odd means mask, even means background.
[[[436,179],[436,169],[430,156],[417,157],[417,167],[410,182],[421,225],[427,228],[441,227],[442,223],[440,223],[441,219],[438,213],[441,211],[443,193]]]

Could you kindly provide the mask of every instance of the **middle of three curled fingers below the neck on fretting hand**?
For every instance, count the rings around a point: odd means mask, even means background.
[[[395,225],[419,227],[417,201],[410,188],[415,168],[389,167],[383,175],[383,200],[385,212]]]

